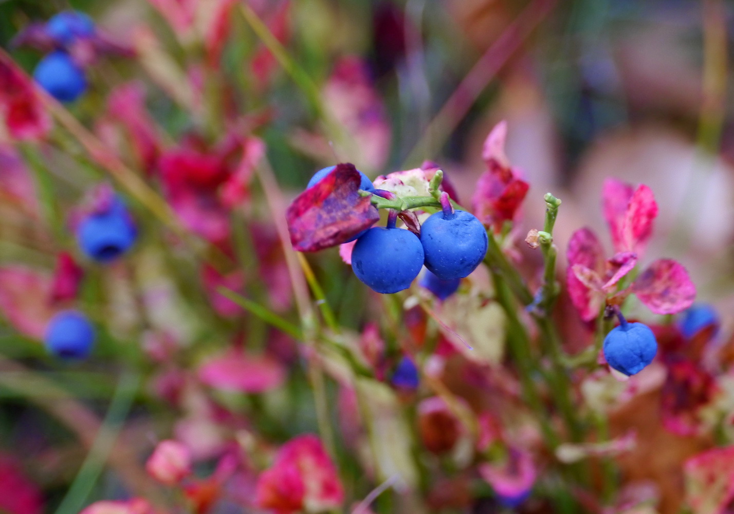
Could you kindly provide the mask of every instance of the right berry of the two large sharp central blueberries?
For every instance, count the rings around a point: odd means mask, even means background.
[[[466,211],[431,214],[421,226],[426,268],[441,280],[464,278],[487,255],[487,231]]]

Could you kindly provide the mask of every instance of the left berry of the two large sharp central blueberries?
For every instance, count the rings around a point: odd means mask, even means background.
[[[423,261],[421,240],[404,228],[370,228],[352,249],[357,278],[383,294],[409,288]]]

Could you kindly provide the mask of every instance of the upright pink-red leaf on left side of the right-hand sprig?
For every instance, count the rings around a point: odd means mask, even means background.
[[[581,319],[590,321],[598,316],[603,295],[585,285],[576,276],[574,267],[585,267],[600,276],[604,267],[604,250],[597,236],[589,228],[581,228],[573,233],[568,242],[567,258],[566,286],[568,294],[571,297],[573,306],[581,315]]]

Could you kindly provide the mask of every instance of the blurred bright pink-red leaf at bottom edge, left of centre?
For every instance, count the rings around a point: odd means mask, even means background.
[[[319,438],[306,434],[280,448],[258,479],[256,496],[259,507],[278,513],[320,513],[340,508],[344,489]]]

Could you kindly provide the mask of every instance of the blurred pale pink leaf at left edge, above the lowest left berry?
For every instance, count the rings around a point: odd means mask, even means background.
[[[0,268],[0,312],[15,330],[43,339],[56,310],[51,307],[51,277],[22,266]]]

